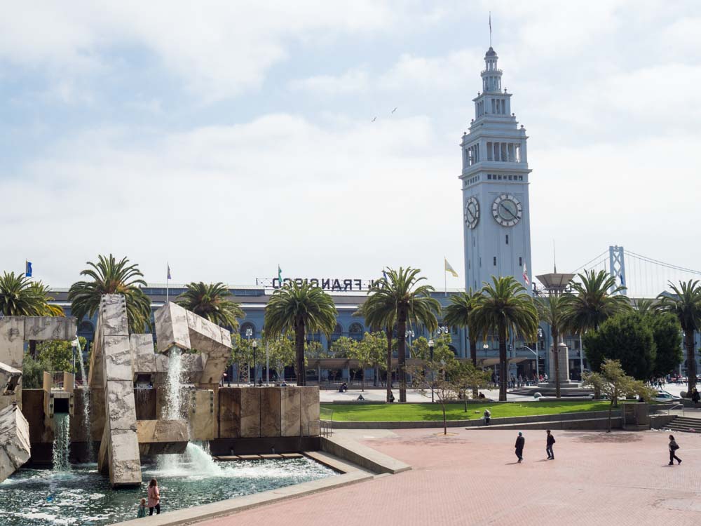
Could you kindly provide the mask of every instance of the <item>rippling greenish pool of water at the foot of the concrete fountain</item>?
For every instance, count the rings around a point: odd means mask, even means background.
[[[143,466],[139,488],[112,490],[97,464],[69,471],[22,469],[0,483],[5,526],[102,526],[136,518],[151,478],[161,487],[161,513],[316,480],[336,473],[306,457],[212,462],[189,445],[184,461]]]

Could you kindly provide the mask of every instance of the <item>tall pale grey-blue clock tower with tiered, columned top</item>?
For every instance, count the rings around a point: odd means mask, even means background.
[[[531,276],[531,224],[526,130],[511,112],[493,48],[484,55],[475,119],[463,134],[465,289],[479,290],[491,276]],[[524,267],[525,266],[525,267]],[[524,268],[526,272],[524,272]]]

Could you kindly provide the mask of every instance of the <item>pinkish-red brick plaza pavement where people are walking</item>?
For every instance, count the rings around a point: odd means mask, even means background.
[[[198,523],[229,525],[689,525],[701,521],[701,436],[677,433],[681,466],[667,466],[667,435],[407,429],[361,440],[414,466],[308,497]],[[367,435],[372,435],[367,431]],[[362,436],[360,436],[362,438]]]

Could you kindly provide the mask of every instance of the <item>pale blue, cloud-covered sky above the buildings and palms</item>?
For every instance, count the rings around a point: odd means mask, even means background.
[[[608,245],[701,267],[695,0],[29,0],[0,18],[0,271],[66,287],[111,252],[149,283],[442,288],[447,257],[460,286],[490,11],[531,273],[553,242],[560,271]]]

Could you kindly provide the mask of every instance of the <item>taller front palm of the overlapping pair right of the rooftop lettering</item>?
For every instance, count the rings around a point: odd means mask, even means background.
[[[407,352],[407,323],[422,323],[428,332],[438,326],[436,314],[440,312],[440,303],[430,296],[431,285],[420,285],[426,278],[419,277],[421,269],[407,267],[386,269],[385,276],[370,288],[367,301],[381,308],[380,318],[397,322],[397,352],[399,363],[399,401],[407,401],[407,378],[405,374]]]

